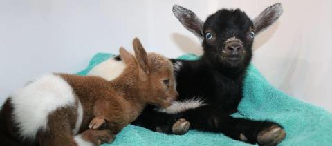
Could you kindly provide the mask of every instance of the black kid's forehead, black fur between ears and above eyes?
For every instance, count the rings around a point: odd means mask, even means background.
[[[206,19],[204,28],[205,30],[213,29],[214,31],[227,30],[229,28],[248,30],[252,28],[252,21],[245,12],[239,9],[222,9]]]

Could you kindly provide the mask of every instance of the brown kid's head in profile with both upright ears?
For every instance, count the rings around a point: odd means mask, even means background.
[[[131,73],[127,75],[134,77],[131,85],[139,89],[142,101],[158,107],[168,107],[178,96],[171,61],[159,54],[147,54],[137,38],[133,39],[133,50],[136,57],[120,48],[121,59],[126,63],[126,70]]]

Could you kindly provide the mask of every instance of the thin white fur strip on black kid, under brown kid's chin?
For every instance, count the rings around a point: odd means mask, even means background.
[[[171,106],[167,108],[156,109],[158,112],[165,112],[167,114],[176,114],[188,109],[194,109],[206,105],[201,98],[192,98],[185,101],[175,101]]]

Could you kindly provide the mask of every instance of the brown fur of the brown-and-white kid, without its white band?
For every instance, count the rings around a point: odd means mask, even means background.
[[[97,76],[56,74],[71,85],[82,104],[83,121],[78,133],[95,145],[111,143],[115,134],[134,121],[145,105],[168,107],[178,95],[172,63],[158,54],[146,54],[138,39],[134,39],[133,48],[136,58],[120,48],[120,55],[127,67],[113,81]],[[169,85],[166,86],[163,80],[169,80]],[[48,116],[47,129],[37,132],[39,145],[77,145],[72,130],[77,121],[78,101],[76,106],[58,108]],[[11,108],[10,101],[7,101],[3,113],[8,119]],[[106,121],[105,129],[88,129],[95,117]],[[7,131],[15,136],[17,131],[10,129],[15,126],[7,123]]]

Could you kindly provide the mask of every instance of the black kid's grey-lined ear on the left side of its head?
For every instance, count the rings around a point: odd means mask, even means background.
[[[203,33],[203,21],[194,14],[191,10],[183,8],[178,5],[173,6],[173,14],[181,22],[181,24],[187,28],[190,32],[194,33],[200,41],[204,39]]]

